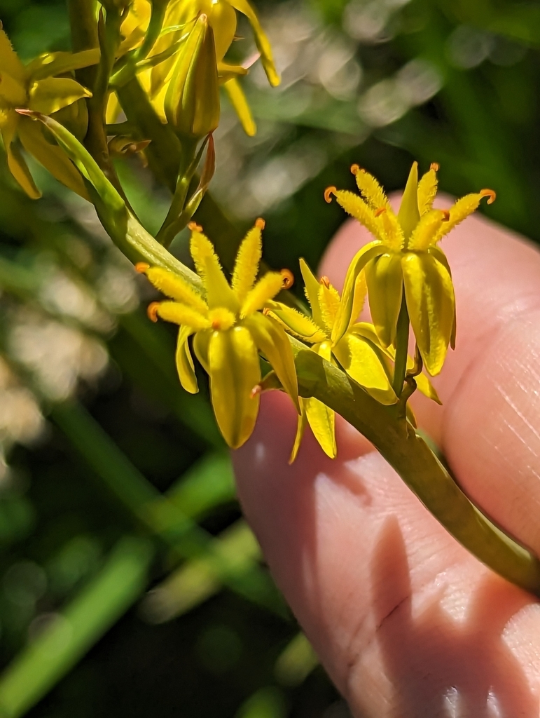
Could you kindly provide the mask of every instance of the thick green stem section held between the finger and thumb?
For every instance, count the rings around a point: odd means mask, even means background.
[[[301,396],[315,396],[349,421],[397,471],[465,549],[508,581],[540,597],[540,561],[468,499],[424,439],[343,371],[291,338]]]

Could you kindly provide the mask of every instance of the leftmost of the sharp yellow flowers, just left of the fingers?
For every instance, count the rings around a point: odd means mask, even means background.
[[[278,322],[260,312],[283,288],[283,274],[268,272],[256,281],[262,251],[262,220],[247,233],[237,254],[229,284],[212,243],[193,223],[191,256],[202,279],[204,295],[180,276],[158,267],[138,264],[151,283],[173,301],[153,302],[157,317],[180,326],[176,367],[181,385],[198,391],[188,338],[210,377],[210,393],[217,424],[225,441],[236,449],[249,439],[259,411],[261,370],[258,352],[270,362],[281,384],[298,407],[298,383],[293,350]]]

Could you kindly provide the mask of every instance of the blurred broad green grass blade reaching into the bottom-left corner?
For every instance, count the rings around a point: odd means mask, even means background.
[[[0,676],[0,715],[34,706],[87,653],[146,586],[150,542],[123,538],[100,573]]]

